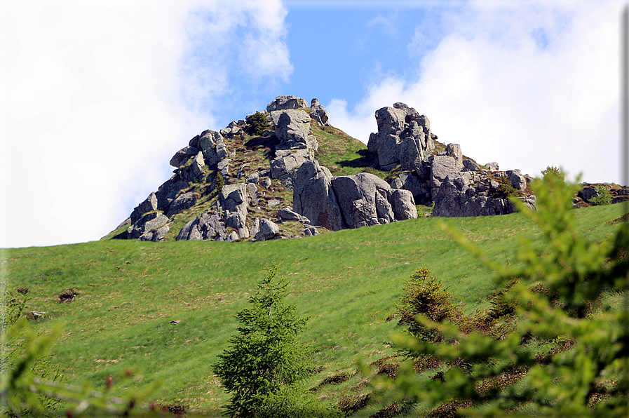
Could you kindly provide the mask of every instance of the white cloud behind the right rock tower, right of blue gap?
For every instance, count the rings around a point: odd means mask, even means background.
[[[563,166],[618,182],[620,6],[472,2],[449,16],[449,34],[424,55],[419,76],[375,83],[351,111],[332,101],[330,119],[366,142],[373,112],[402,101],[479,163],[532,175]]]

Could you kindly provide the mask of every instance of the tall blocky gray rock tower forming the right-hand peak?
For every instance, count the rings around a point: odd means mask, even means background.
[[[377,155],[382,170],[415,170],[434,148],[430,121],[404,103],[376,111],[378,133],[372,133],[367,149]]]

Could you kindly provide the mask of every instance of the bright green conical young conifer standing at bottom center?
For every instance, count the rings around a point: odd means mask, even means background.
[[[292,401],[306,393],[299,388],[309,374],[308,351],[299,343],[306,318],[299,318],[295,305],[284,302],[288,283],[274,281],[277,271],[277,266],[269,271],[249,298],[250,307],[236,314],[241,323],[238,335],[229,339],[229,348],[213,365],[222,386],[231,393],[225,407],[231,417],[264,416],[265,405],[290,407],[278,399],[282,393],[290,393],[287,400]],[[273,412],[273,416],[285,414],[291,411]]]

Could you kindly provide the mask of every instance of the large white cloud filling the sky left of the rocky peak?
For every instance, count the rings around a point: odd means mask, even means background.
[[[257,74],[282,66],[287,77],[285,9],[264,6],[2,2],[0,247],[93,241],[124,220],[170,177],[170,156],[214,126],[202,107],[233,88],[229,73],[250,72],[229,55],[234,42],[258,51]],[[207,36],[202,59],[183,71]]]

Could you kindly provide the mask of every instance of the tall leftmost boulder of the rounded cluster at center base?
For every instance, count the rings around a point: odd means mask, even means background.
[[[344,229],[337,197],[332,190],[332,174],[318,161],[306,161],[295,172],[292,210],[313,225],[339,231]]]

